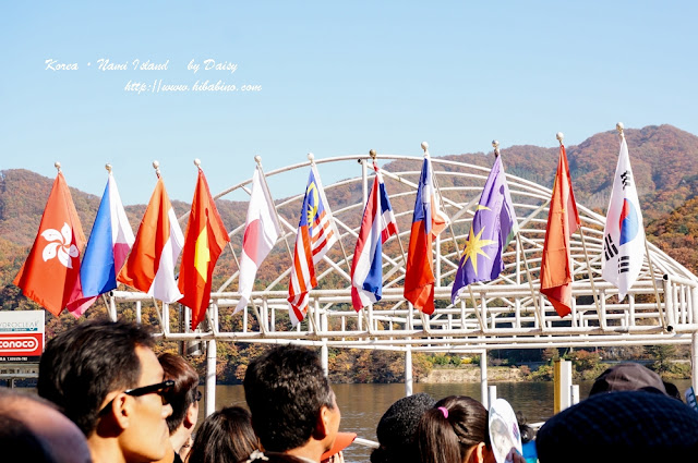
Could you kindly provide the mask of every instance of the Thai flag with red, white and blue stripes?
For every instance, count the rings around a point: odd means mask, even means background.
[[[363,209],[357,247],[351,263],[351,303],[359,312],[383,294],[383,243],[397,234],[397,222],[385,191],[383,176],[374,163],[375,179]]]

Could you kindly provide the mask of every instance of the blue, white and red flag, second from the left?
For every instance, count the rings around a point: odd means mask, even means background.
[[[117,288],[117,273],[125,261],[134,241],[133,231],[117,190],[117,181],[109,172],[107,186],[80,267],[84,298],[68,305],[71,314],[80,317],[100,294]]]

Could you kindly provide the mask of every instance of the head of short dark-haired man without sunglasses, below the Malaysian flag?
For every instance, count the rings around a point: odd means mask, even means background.
[[[245,373],[244,393],[265,450],[286,452],[312,443],[320,458],[332,448],[340,413],[313,351],[281,345],[255,358]]]

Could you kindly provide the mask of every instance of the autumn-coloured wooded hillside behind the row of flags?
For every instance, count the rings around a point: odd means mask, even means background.
[[[629,129],[625,133],[650,239],[661,234],[662,248],[696,271],[698,200],[695,198],[698,196],[698,137],[672,125]],[[618,147],[618,135],[615,131],[595,134],[577,146],[567,147],[575,195],[579,203],[598,211],[605,210]],[[546,186],[552,186],[557,153],[556,147],[542,148],[530,145],[502,149],[508,173]],[[491,154],[485,156],[482,153],[446,158],[484,167],[491,166],[493,160]],[[385,168],[388,171],[418,170],[419,165],[400,160],[390,162]],[[52,181],[53,179],[27,170],[0,172],[0,298],[11,291],[4,287],[14,278],[26,257],[28,246],[34,242]],[[88,234],[97,212],[99,197],[75,188],[71,188],[71,194],[85,233]],[[340,207],[354,203],[360,195],[358,188],[334,188],[328,192],[328,199],[333,207]],[[228,230],[244,222],[246,203],[218,200],[216,204]],[[190,208],[189,204],[182,202],[173,202],[173,206],[180,216]],[[127,207],[134,232],[144,211],[145,205]],[[361,212],[358,210],[357,215],[359,214]],[[185,226],[182,223],[182,229]],[[652,240],[655,241],[655,237]],[[290,245],[292,246],[292,243]],[[261,268],[261,279],[267,280],[272,273],[278,275],[287,268],[287,254],[279,252],[278,255],[272,256]],[[214,277],[221,282],[236,268],[230,252],[226,251]],[[265,272],[269,276],[264,275]]]

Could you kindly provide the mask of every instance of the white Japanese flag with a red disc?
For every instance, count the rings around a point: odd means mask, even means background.
[[[276,219],[272,194],[266,182],[262,180],[260,169],[256,168],[252,175],[252,193],[248,207],[248,219],[244,223],[244,237],[242,239],[240,283],[238,287],[240,302],[236,307],[236,314],[250,302],[257,269],[269,255],[280,234],[281,228]]]

